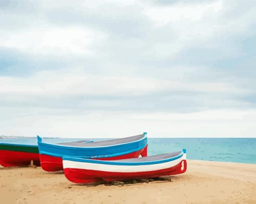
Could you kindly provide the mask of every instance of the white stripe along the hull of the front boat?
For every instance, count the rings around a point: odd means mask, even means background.
[[[109,172],[143,172],[170,168],[179,164],[183,159],[186,159],[186,154],[183,154],[181,158],[173,161],[148,165],[112,165],[63,160],[63,168],[79,168]]]

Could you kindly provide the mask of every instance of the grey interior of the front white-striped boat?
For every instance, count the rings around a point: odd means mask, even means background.
[[[166,153],[166,154],[158,154],[158,155],[153,155],[153,156],[145,156],[145,157],[131,158],[131,159],[118,159],[118,160],[113,160],[113,161],[114,162],[157,161],[157,160],[163,160],[163,159],[168,159],[168,158],[172,158],[172,157],[178,156],[180,153],[181,153],[181,151],[177,151],[177,152]]]

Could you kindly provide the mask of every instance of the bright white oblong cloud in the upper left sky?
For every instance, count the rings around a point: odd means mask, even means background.
[[[79,27],[38,27],[0,37],[2,48],[17,49],[31,55],[95,55],[92,45],[105,39],[105,34]]]

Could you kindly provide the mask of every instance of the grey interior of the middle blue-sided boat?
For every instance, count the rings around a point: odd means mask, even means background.
[[[124,138],[118,138],[118,139],[111,139],[111,140],[104,140],[104,141],[97,141],[97,142],[64,142],[64,143],[58,143],[60,145],[65,146],[76,146],[76,147],[98,147],[98,146],[109,146],[109,145],[116,145],[116,144],[122,144],[127,142],[133,142],[140,140],[144,137],[144,134],[136,135],[132,137],[124,137]]]

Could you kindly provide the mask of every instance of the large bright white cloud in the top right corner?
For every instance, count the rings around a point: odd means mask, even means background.
[[[143,13],[152,21],[155,31],[170,33],[169,39],[156,40],[150,52],[159,59],[175,59],[191,47],[219,50],[223,58],[243,55],[239,45],[228,44],[238,35],[251,36],[248,32],[255,21],[255,7],[239,16],[228,18],[237,7],[235,2],[208,1],[186,2],[167,6],[149,5]],[[226,45],[222,49],[221,46]]]

